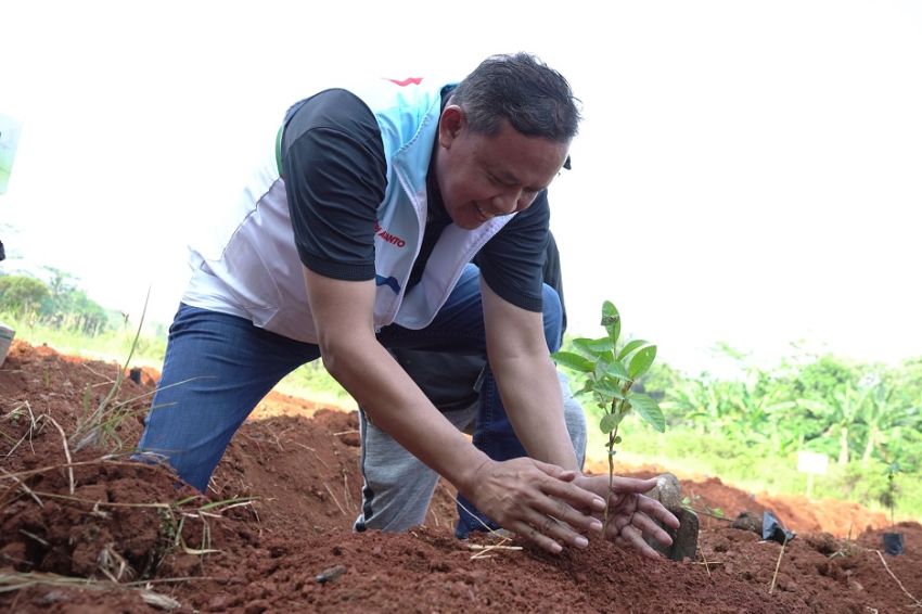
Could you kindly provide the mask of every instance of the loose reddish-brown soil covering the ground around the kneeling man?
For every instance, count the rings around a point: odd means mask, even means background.
[[[777,578],[779,543],[707,515],[694,562],[650,561],[598,540],[560,555],[520,543],[523,550],[472,559],[451,534],[448,485],[426,526],[354,534],[356,415],[280,395],[241,428],[207,498],[183,501],[194,491],[177,489],[166,470],[124,455],[103,459],[117,442],[65,449],[55,423],[73,433],[117,372],[23,342],[0,368],[0,611],[922,611],[919,524],[899,525],[906,551],[889,557],[879,553],[880,514],[837,501],[753,496],[713,477],[682,481],[695,507],[720,508],[730,519],[768,509],[798,533]],[[119,398],[151,393],[151,382],[142,382],[125,381]],[[116,434],[128,450],[145,402],[125,406],[131,411]],[[256,499],[204,508],[240,497]]]

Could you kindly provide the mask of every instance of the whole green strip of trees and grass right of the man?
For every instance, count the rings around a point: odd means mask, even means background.
[[[598,347],[597,340],[589,341],[571,340],[565,349],[591,361],[586,350]],[[894,511],[922,516],[922,358],[883,366],[809,356],[757,369],[729,346],[723,351],[737,361],[730,379],[691,376],[666,364],[639,376],[633,389],[642,384],[660,400],[669,430],[663,436],[652,427],[620,424],[619,453],[719,475],[756,491],[804,493],[796,452],[816,451],[841,462],[817,479],[814,495],[871,508],[886,507],[885,468],[898,463],[912,477],[895,479]],[[584,360],[569,366],[579,368],[576,378],[588,372]],[[600,421],[605,413],[599,407],[587,411]],[[590,433],[590,453],[607,438]]]

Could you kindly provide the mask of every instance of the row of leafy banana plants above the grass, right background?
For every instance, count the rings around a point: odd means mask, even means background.
[[[741,372],[730,381],[707,374],[674,381],[661,404],[667,424],[741,446],[766,445],[778,455],[823,452],[843,466],[872,460],[922,466],[922,378],[833,357]],[[895,387],[896,381],[904,385]]]

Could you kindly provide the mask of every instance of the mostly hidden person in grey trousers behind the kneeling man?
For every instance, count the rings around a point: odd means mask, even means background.
[[[568,165],[564,165],[568,167]],[[477,264],[477,258],[474,258]],[[542,278],[556,292],[561,302],[561,338],[566,329],[566,307],[563,300],[560,253],[553,234],[548,232]],[[479,355],[459,355],[450,351],[427,351],[396,348],[390,354],[397,363],[426,395],[426,398],[459,430],[471,433],[477,423],[481,393],[485,382],[491,382],[487,359]],[[582,468],[586,457],[586,414],[573,397],[569,383],[558,372],[563,397],[564,421],[576,452],[576,465]],[[359,408],[361,433],[362,510],[356,529],[406,530],[425,521],[426,510],[438,483],[438,475],[419,459],[407,452],[390,435],[370,423]],[[479,421],[487,421],[482,412]],[[483,430],[478,432],[483,435]],[[481,444],[478,439],[475,445]],[[526,456],[517,439],[510,438],[498,447],[502,458]],[[498,455],[491,455],[498,460]],[[476,514],[473,506],[460,497],[456,535],[465,538],[472,530],[495,528],[489,519]]]

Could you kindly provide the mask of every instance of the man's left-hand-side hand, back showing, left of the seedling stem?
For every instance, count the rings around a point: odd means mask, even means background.
[[[577,475],[527,457],[487,461],[463,494],[503,528],[558,553],[562,543],[586,548],[580,532],[602,532],[605,500],[577,486]]]

